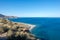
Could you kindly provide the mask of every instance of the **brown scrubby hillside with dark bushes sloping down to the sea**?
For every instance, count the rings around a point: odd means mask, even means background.
[[[0,18],[0,38],[6,38],[6,40],[39,40],[30,33],[27,26]]]

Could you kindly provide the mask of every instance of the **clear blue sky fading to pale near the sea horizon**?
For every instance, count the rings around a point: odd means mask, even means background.
[[[0,14],[18,17],[60,17],[60,0],[0,0]]]

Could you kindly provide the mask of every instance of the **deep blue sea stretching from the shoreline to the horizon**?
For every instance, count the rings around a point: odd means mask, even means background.
[[[41,40],[60,40],[60,18],[17,18],[9,20],[36,25],[31,33]]]

